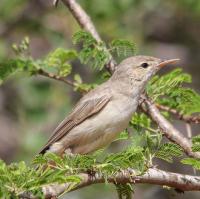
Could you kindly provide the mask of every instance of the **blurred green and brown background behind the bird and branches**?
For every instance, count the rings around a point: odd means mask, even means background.
[[[133,41],[137,54],[180,58],[179,66],[193,76],[192,87],[200,91],[199,0],[80,0],[105,41]],[[0,59],[12,57],[11,45],[30,38],[31,55],[44,57],[57,47],[73,48],[72,35],[79,30],[67,8],[52,0],[1,0]],[[73,74],[85,82],[98,81],[98,71],[75,62]],[[168,67],[163,72],[171,70]],[[6,162],[31,161],[59,121],[80,98],[72,88],[44,77],[18,74],[0,86],[0,158]],[[175,125],[183,133],[185,125]],[[200,128],[193,127],[193,134]],[[113,148],[119,148],[116,144]],[[190,173],[189,168],[158,163],[166,170]],[[199,193],[178,194],[158,186],[137,185],[135,199],[200,198]],[[94,185],[64,198],[116,198],[112,185]]]

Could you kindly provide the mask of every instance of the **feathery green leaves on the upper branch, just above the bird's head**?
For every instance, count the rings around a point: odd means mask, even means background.
[[[123,58],[135,53],[135,45],[130,41],[115,39],[108,44],[109,48],[107,48],[104,42],[96,41],[90,33],[82,30],[74,34],[73,41],[74,44],[82,43],[82,48],[79,52],[81,63],[89,63],[100,70],[110,61],[110,52],[116,52],[118,56]]]

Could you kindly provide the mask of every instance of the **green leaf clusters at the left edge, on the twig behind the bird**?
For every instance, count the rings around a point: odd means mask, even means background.
[[[77,57],[75,50],[58,48],[50,52],[43,60],[34,60],[29,54],[29,39],[27,37],[19,45],[13,44],[13,49],[17,58],[0,62],[0,82],[17,72],[36,75],[41,70],[58,77],[66,77],[71,73],[69,62]]]

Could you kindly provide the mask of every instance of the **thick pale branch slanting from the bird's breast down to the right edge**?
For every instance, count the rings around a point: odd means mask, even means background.
[[[190,141],[183,136],[158,110],[146,96],[142,96],[143,102],[140,107],[154,122],[156,122],[164,135],[172,142],[178,144],[190,157],[200,158],[200,153],[194,153]],[[145,104],[143,104],[145,103]]]

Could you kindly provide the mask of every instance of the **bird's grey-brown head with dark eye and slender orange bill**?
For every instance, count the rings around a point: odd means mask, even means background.
[[[150,56],[133,56],[123,60],[117,67],[114,78],[128,78],[138,84],[145,84],[158,70],[179,59],[162,60]]]

